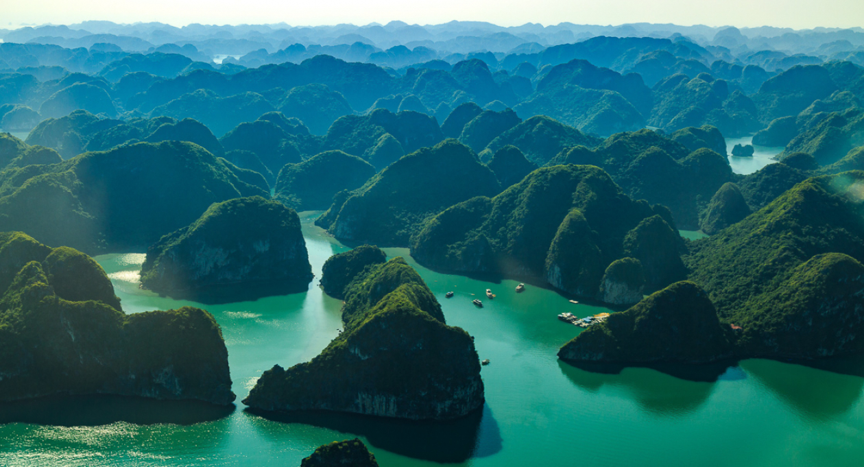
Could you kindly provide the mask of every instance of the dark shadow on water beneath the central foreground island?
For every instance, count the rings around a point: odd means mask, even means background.
[[[502,447],[498,422],[486,405],[461,419],[423,422],[324,411],[271,413],[246,408],[245,412],[278,423],[314,425],[357,434],[377,448],[438,463],[461,463],[471,457],[492,456]]]

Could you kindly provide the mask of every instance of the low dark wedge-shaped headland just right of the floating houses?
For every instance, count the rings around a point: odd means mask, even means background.
[[[582,331],[558,356],[565,361],[706,363],[733,355],[732,333],[705,291],[678,282]]]

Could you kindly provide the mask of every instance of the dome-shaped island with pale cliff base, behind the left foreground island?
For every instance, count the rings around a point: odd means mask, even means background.
[[[213,204],[147,250],[141,284],[153,291],[312,279],[300,218],[261,196]]]

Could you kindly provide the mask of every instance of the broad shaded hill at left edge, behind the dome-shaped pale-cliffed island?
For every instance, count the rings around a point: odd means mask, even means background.
[[[0,172],[0,231],[86,253],[142,247],[213,202],[268,195],[197,144],[138,143]]]

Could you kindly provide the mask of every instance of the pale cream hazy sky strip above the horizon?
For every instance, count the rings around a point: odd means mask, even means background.
[[[681,25],[864,27],[864,0],[0,0],[0,28],[25,23],[114,22],[296,25],[435,24],[476,20],[516,26],[673,22]]]

